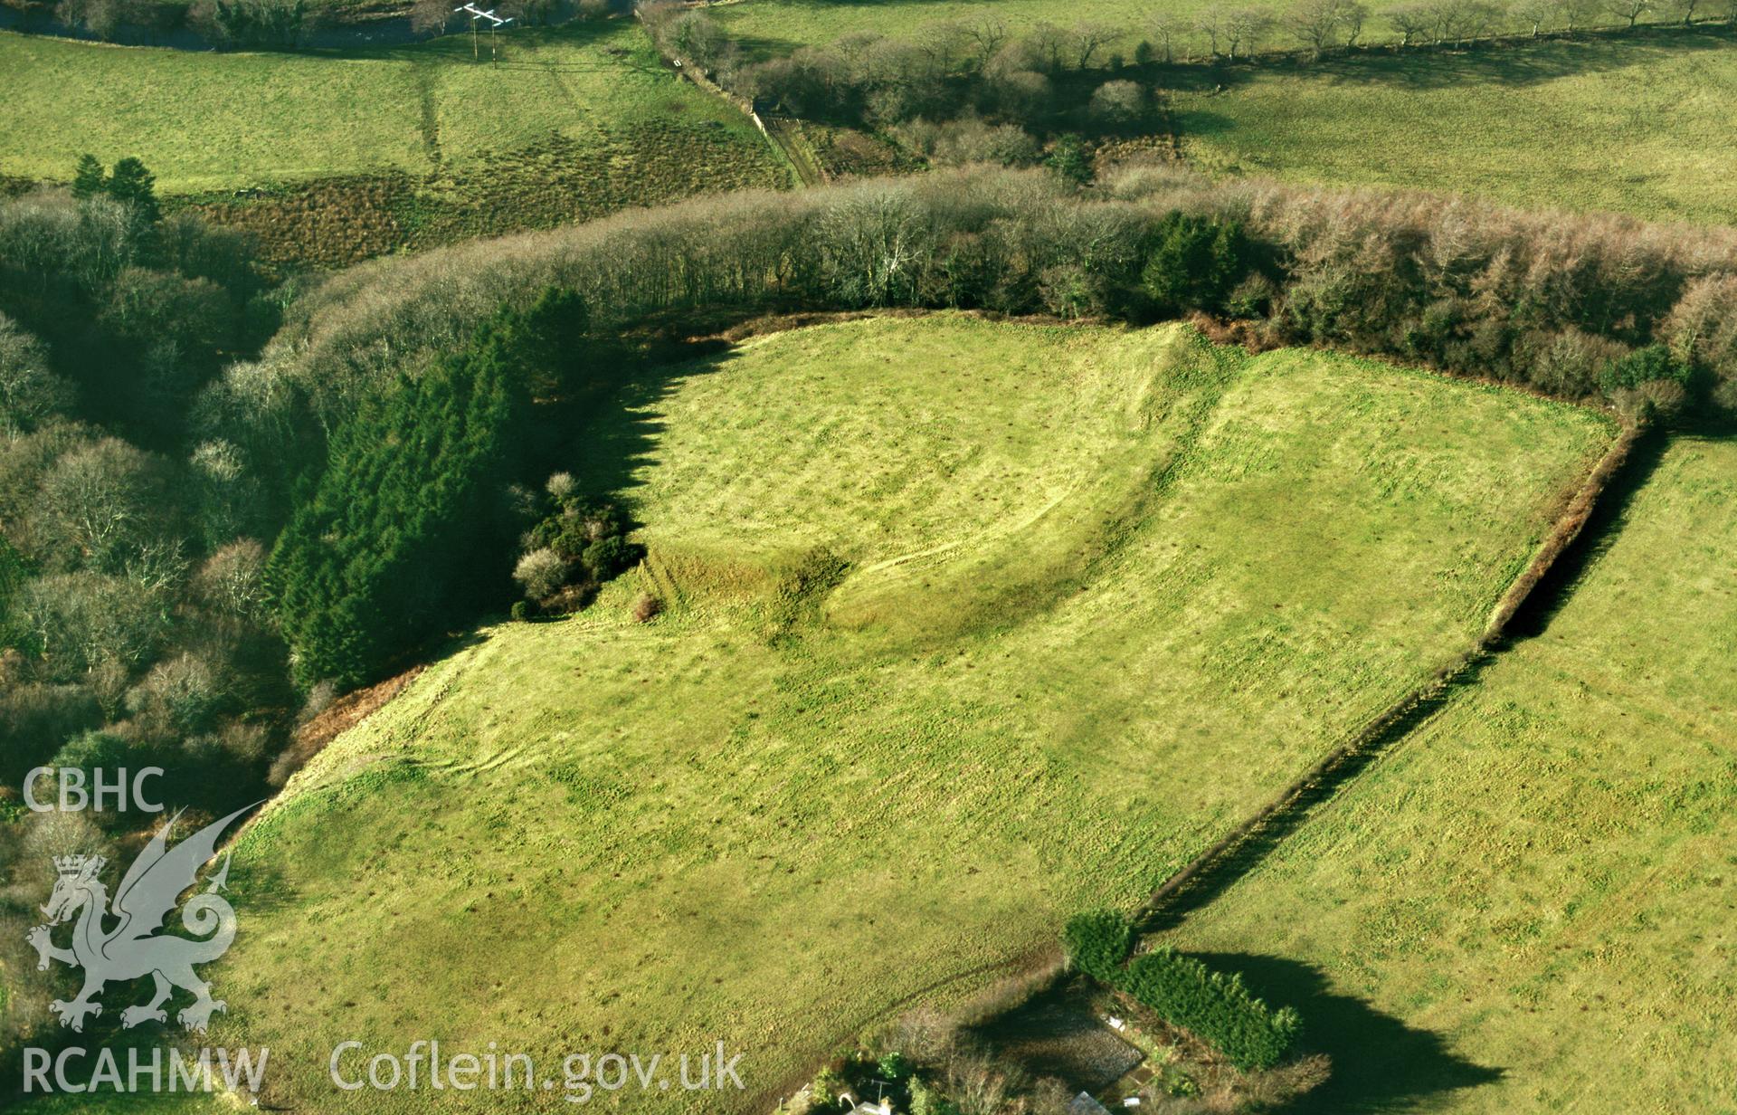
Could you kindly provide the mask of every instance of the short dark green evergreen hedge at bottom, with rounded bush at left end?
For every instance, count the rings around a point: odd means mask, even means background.
[[[1068,922],[1065,938],[1075,967],[1133,995],[1159,1018],[1205,1040],[1245,1072],[1277,1065],[1303,1028],[1294,1009],[1273,1011],[1249,993],[1240,973],[1211,971],[1172,948],[1157,948],[1129,960],[1134,929],[1120,914],[1080,914]]]

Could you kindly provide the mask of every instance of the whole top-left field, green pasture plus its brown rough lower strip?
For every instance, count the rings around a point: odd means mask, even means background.
[[[474,64],[466,35],[195,54],[0,31],[0,175],[68,181],[85,151],[134,155],[160,193],[257,233],[274,261],[344,264],[794,181],[629,21],[514,31],[499,66]]]

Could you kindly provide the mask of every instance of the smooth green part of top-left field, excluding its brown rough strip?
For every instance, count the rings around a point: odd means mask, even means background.
[[[195,54],[0,33],[0,170],[71,179],[85,151],[135,155],[170,193],[403,170],[507,155],[551,135],[608,162],[637,132],[764,141],[740,113],[662,69],[627,21],[514,31],[472,64],[467,35],[368,52]],[[769,158],[764,156],[764,158]],[[719,170],[723,172],[723,170]],[[657,182],[646,182],[655,189]]]

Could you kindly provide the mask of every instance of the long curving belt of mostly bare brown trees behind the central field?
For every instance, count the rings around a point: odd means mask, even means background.
[[[1244,320],[1258,344],[1322,344],[1636,412],[1737,413],[1730,229],[1169,167],[1106,172],[1089,191],[1042,170],[968,168],[740,193],[382,261],[294,307],[266,360],[238,370],[233,410],[273,422],[257,401],[288,394],[266,382],[281,377],[342,413],[377,389],[382,351],[450,349],[547,283],[578,290],[606,330],[726,307],[1136,323],[1207,309]],[[1662,353],[1628,360],[1650,346]]]

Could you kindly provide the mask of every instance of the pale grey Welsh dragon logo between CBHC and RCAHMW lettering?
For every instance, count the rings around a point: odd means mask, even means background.
[[[96,999],[106,983],[142,976],[155,981],[151,1000],[122,1011],[123,1026],[168,1021],[163,1004],[174,995],[174,988],[193,992],[193,1004],[175,1014],[188,1030],[203,1033],[212,1013],[228,1009],[222,999],[212,999],[210,983],[193,971],[195,964],[208,964],[228,952],[234,940],[234,908],[219,893],[229,877],[228,856],[208,877],[207,887],[181,907],[181,924],[203,940],[162,936],[156,931],[163,927],[163,919],[175,908],[181,893],[193,886],[200,868],[215,854],[222,830],[252,808],[245,806],[212,821],[170,849],[168,830],[181,818],[175,813],[127,868],[113,908],[101,879],[106,863],[102,856],[54,856],[54,894],[42,907],[49,924],[36,926],[24,940],[36,950],[38,971],[49,971],[49,960],[85,971],[85,986],[76,999],[56,999],[49,1004],[63,1026],[83,1032],[85,1018],[102,1014],[102,1004]],[[71,948],[59,948],[50,934],[75,915],[78,920],[73,924]]]

